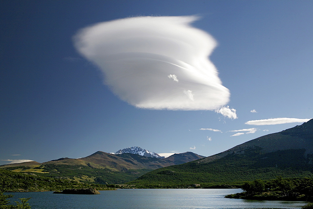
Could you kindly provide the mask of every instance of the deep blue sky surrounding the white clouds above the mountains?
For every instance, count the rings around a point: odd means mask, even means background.
[[[302,124],[247,121],[313,117],[313,1],[5,0],[0,10],[0,160],[44,162],[130,146],[209,156]],[[114,95],[74,47],[81,28],[149,15],[201,17],[192,25],[218,42],[210,60],[238,119],[138,109]],[[250,128],[257,131],[227,132]]]

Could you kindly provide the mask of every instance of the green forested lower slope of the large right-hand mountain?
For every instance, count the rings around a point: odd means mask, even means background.
[[[201,160],[151,171],[129,184],[150,187],[184,187],[191,184],[212,185],[229,182],[274,179],[282,177],[313,177],[312,166],[306,164],[305,150],[278,150],[261,153],[258,148],[245,154],[229,154],[208,163]]]

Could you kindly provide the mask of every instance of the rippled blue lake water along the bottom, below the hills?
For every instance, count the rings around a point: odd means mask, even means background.
[[[224,198],[241,189],[118,189],[100,195],[43,192],[6,192],[18,198],[32,197],[32,208],[301,208],[302,201],[255,201]],[[12,204],[12,203],[11,203]],[[14,203],[15,204],[15,203]]]

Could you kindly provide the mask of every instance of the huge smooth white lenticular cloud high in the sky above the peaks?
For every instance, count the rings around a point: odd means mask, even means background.
[[[195,16],[134,17],[98,23],[75,36],[105,84],[138,108],[216,110],[228,103],[208,56],[216,41],[193,28]]]

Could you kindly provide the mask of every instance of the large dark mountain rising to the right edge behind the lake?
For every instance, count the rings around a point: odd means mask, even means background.
[[[313,177],[313,119],[200,160],[160,168],[130,182],[179,187],[282,177]]]

